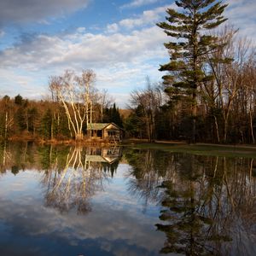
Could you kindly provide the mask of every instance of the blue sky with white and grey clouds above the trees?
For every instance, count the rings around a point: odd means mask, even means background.
[[[256,42],[256,1],[225,0],[224,15],[240,35]],[[148,77],[160,82],[170,38],[155,26],[172,0],[0,0],[0,96],[44,99],[49,76],[66,69],[96,73],[125,108]]]

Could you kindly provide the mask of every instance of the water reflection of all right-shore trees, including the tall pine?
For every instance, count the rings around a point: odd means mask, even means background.
[[[254,255],[254,160],[129,150],[129,189],[161,206],[160,253]]]

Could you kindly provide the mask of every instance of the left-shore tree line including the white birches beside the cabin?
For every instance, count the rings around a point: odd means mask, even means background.
[[[20,95],[3,96],[0,99],[0,139],[80,140],[92,122],[114,122],[122,127],[119,108],[107,91],[96,90],[92,84],[94,77],[88,70],[80,77],[73,71],[51,77],[51,97],[40,101]]]

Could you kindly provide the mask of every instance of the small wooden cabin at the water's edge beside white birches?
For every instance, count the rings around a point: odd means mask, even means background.
[[[92,123],[87,126],[90,139],[119,143],[122,139],[122,129],[114,123]]]

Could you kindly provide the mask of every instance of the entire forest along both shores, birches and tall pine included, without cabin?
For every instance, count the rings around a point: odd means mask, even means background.
[[[96,74],[67,70],[49,78],[49,97],[20,95],[0,100],[0,137],[83,140],[89,123],[113,122],[127,138],[188,143],[255,143],[256,55],[253,42],[226,24],[226,4],[176,1],[158,23],[168,38],[170,62],[163,79],[146,78],[131,92],[129,115],[107,91],[96,90]],[[143,86],[143,84],[142,84]]]

